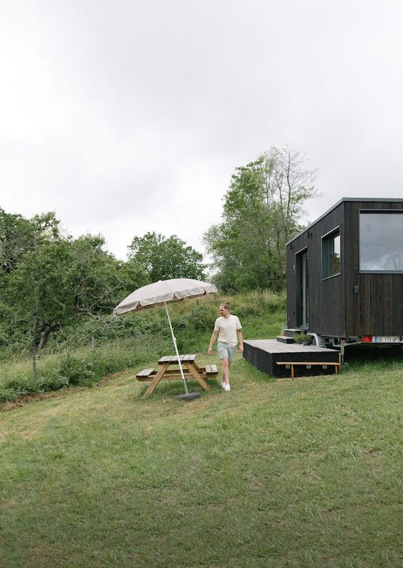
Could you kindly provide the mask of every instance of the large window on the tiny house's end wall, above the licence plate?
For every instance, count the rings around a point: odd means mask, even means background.
[[[360,212],[360,271],[403,272],[403,211]]]

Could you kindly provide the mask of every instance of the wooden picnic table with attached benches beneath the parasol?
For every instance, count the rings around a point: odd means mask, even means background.
[[[210,388],[205,382],[207,378],[216,377],[218,374],[216,365],[205,365],[199,367],[195,361],[195,354],[179,355],[181,365],[183,368],[183,376],[185,380],[193,378],[198,381],[203,391],[208,391]],[[151,395],[159,381],[178,381],[182,380],[181,369],[178,364],[178,357],[176,355],[166,355],[158,360],[159,368],[144,368],[136,374],[137,381],[146,382],[151,381],[149,388],[141,398],[147,398]]]

